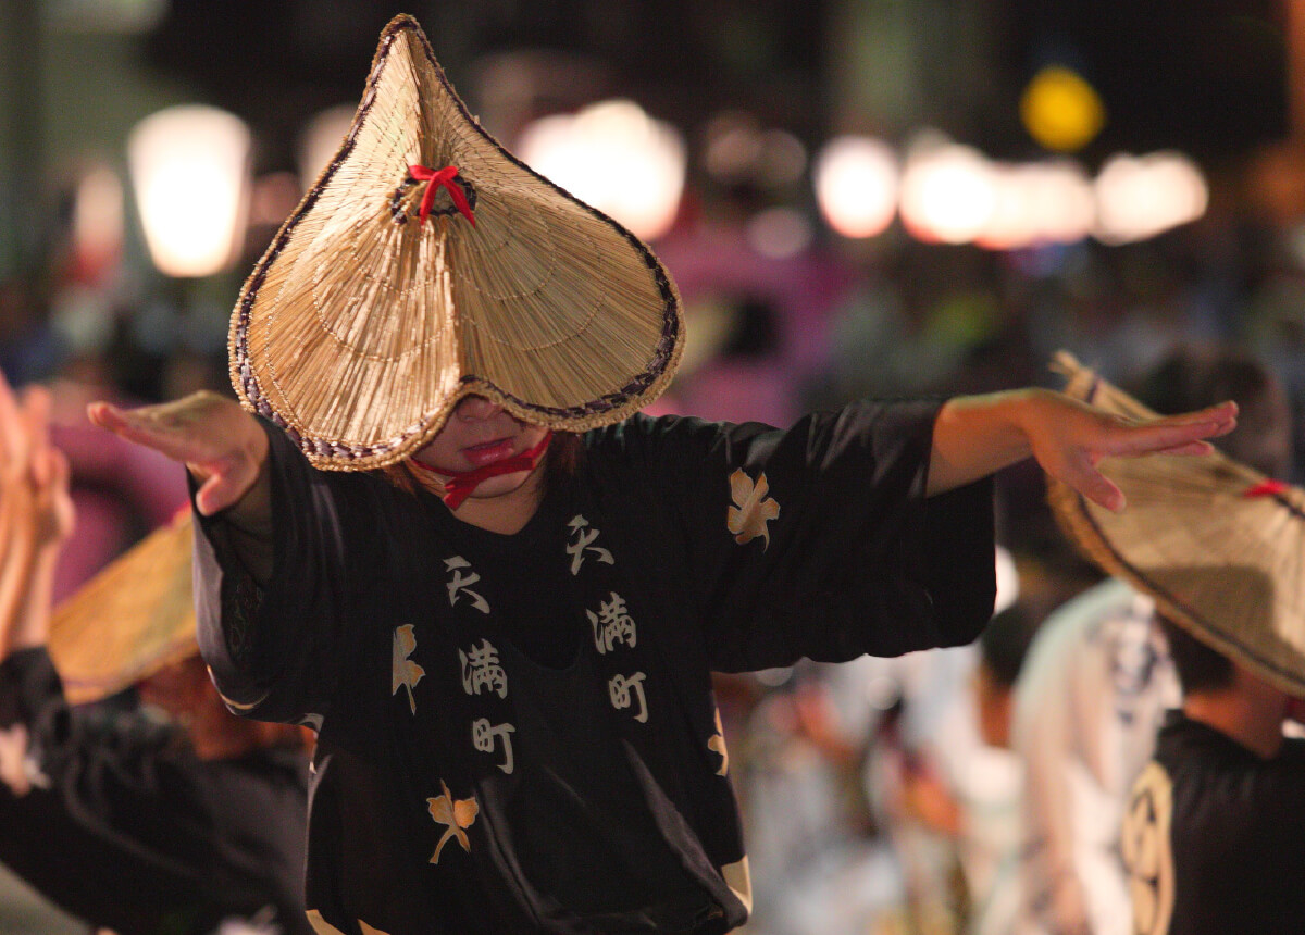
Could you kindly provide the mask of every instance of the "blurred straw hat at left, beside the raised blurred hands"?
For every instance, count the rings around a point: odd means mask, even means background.
[[[97,702],[200,651],[189,510],[55,609],[50,656],[73,704]]]

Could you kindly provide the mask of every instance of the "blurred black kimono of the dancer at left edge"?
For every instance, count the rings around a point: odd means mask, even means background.
[[[74,712],[46,651],[16,652],[0,662],[0,862],[119,935],[308,932],[305,759],[200,760],[136,712]]]

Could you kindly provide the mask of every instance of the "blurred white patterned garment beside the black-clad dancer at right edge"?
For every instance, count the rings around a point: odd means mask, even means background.
[[[1015,690],[1026,932],[1130,935],[1120,828],[1180,690],[1150,599],[1107,580],[1047,618]]]

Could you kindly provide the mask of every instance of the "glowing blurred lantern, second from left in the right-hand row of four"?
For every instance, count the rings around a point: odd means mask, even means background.
[[[902,172],[902,223],[920,240],[967,244],[997,210],[997,177],[988,158],[960,143],[912,147]]]

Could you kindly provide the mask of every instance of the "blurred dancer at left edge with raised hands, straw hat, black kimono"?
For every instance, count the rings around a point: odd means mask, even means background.
[[[303,737],[236,719],[209,681],[189,519],[51,625],[74,510],[48,406],[0,382],[0,861],[119,935],[307,935]],[[70,708],[56,662],[80,700],[134,683],[149,709]]]

